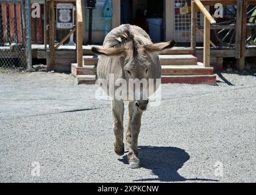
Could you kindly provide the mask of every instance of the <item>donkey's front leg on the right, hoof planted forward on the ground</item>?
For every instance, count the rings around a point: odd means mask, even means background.
[[[143,112],[138,111],[133,105],[132,122],[130,124],[131,143],[127,154],[130,168],[139,168],[140,160],[138,158],[138,135],[140,133],[141,116]]]

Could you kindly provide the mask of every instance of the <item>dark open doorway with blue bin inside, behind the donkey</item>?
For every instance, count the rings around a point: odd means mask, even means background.
[[[163,41],[164,0],[121,0],[121,24],[140,26],[153,42]]]

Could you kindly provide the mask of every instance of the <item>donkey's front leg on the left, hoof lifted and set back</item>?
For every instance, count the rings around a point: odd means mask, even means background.
[[[124,154],[124,143],[123,143],[123,121],[124,121],[124,103],[123,101],[112,101],[112,113],[114,121],[114,133],[116,141],[114,143],[114,150],[117,155]]]

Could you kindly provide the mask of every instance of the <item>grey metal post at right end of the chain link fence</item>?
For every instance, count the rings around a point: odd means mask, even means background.
[[[32,69],[32,49],[31,49],[31,4],[30,0],[26,1],[26,39],[27,39],[27,69]]]

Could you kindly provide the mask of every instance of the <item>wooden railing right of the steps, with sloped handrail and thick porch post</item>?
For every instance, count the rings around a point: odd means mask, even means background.
[[[210,25],[216,21],[212,18],[206,5],[214,6],[216,3],[222,5],[236,5],[236,24],[230,25]],[[235,58],[237,59],[238,69],[244,70],[246,56],[246,29],[254,24],[247,24],[247,5],[256,5],[255,0],[193,0],[191,4],[191,48],[196,53],[196,7],[204,14],[204,65],[210,65],[210,29],[235,29]],[[200,33],[200,32],[199,32]],[[202,32],[201,32],[202,33]],[[212,43],[211,43],[212,44]],[[213,45],[213,44],[212,44]]]

